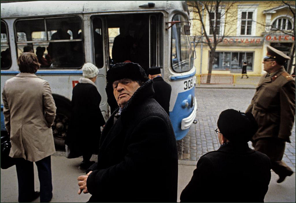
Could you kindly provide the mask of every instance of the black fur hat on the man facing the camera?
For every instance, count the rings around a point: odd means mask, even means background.
[[[107,71],[107,86],[112,86],[114,81],[124,78],[141,82],[146,82],[149,79],[139,64],[117,63]]]

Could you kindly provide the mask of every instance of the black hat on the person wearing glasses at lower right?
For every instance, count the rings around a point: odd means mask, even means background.
[[[252,113],[234,109],[222,111],[217,122],[219,131],[231,142],[248,142],[258,130]]]

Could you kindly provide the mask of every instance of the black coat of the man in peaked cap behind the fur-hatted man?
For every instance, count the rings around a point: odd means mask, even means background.
[[[153,89],[155,92],[153,98],[161,105],[165,112],[170,115],[170,93],[172,87],[159,76],[153,78]]]

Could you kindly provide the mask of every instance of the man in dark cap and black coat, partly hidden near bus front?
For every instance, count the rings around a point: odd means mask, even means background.
[[[153,98],[161,105],[161,107],[170,116],[170,93],[172,87],[163,80],[160,74],[160,67],[153,66],[148,69],[149,79],[153,79]]]

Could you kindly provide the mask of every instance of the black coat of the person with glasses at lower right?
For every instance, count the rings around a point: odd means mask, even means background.
[[[200,157],[181,202],[263,202],[270,168],[265,154],[229,142]]]

